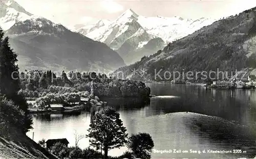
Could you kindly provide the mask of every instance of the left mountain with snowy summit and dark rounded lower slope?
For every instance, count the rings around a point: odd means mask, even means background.
[[[22,70],[112,71],[125,65],[102,42],[32,15],[14,0],[1,0],[0,5],[0,27],[9,36]]]

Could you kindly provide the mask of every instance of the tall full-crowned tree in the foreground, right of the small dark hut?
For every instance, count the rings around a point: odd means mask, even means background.
[[[104,158],[108,158],[108,151],[120,148],[127,142],[126,128],[120,115],[113,108],[106,107],[92,118],[88,129],[90,146],[97,150],[104,150]]]

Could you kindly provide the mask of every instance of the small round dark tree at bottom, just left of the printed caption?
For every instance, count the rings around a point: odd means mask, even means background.
[[[152,137],[148,133],[132,134],[128,140],[127,147],[133,151],[137,158],[151,158],[151,151],[154,147]]]

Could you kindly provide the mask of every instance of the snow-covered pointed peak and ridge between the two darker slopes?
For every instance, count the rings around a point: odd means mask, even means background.
[[[84,36],[106,43],[119,53],[126,64],[152,55],[165,44],[185,37],[216,21],[210,18],[197,20],[181,17],[145,17],[132,9],[126,10],[114,21],[102,20],[76,30]]]

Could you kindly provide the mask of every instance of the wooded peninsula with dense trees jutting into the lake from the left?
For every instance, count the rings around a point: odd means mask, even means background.
[[[150,97],[151,89],[141,81],[117,79],[95,72],[25,71],[19,75],[18,94],[26,97],[30,110],[51,110],[52,104],[62,104],[64,110],[87,109],[102,105],[101,98]],[[86,102],[84,102],[86,100]],[[40,111],[35,111],[40,112]]]

